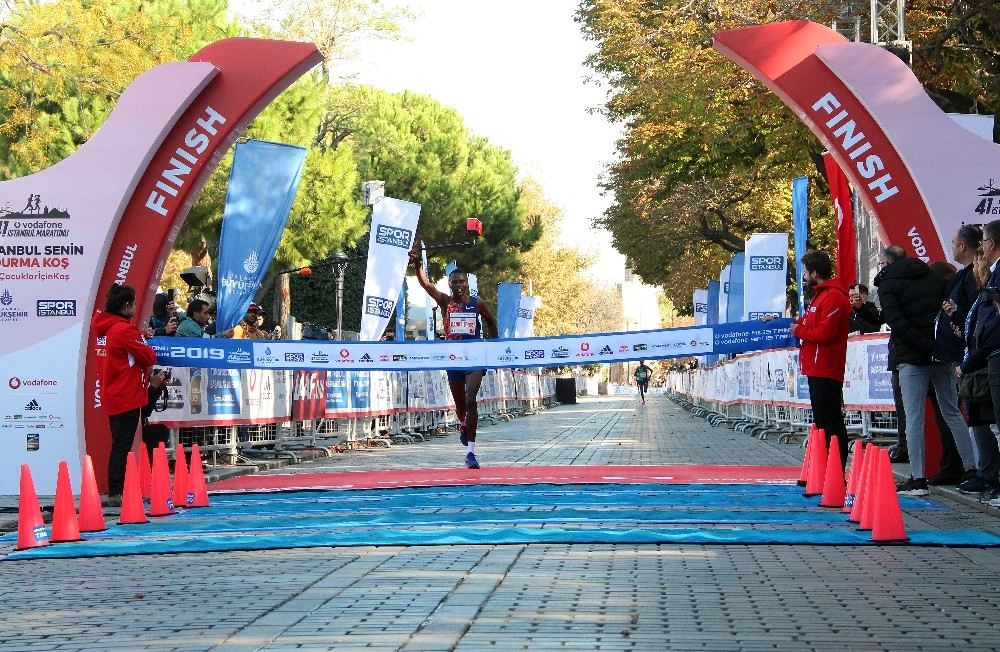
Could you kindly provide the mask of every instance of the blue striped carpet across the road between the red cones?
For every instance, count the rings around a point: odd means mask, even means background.
[[[900,502],[911,513],[950,509]],[[871,544],[840,510],[789,485],[476,485],[214,494],[212,503],[5,559],[370,545]],[[1000,546],[1000,537],[975,530],[908,534],[911,545]]]

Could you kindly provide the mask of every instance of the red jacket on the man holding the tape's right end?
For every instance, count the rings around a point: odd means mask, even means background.
[[[824,281],[813,290],[816,296],[795,322],[798,324],[795,337],[802,340],[799,348],[802,375],[844,382],[851,303],[839,281]]]

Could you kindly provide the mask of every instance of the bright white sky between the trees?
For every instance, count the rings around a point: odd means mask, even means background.
[[[343,72],[457,109],[471,132],[510,150],[521,175],[562,209],[560,240],[597,255],[592,272],[620,282],[624,257],[590,224],[609,205],[598,183],[621,129],[588,112],[606,90],[586,81],[583,61],[596,46],[573,21],[577,2],[410,0],[404,4],[417,15],[404,25],[406,39],[364,42]]]

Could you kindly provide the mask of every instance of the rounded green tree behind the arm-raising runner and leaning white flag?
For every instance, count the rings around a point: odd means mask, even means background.
[[[348,86],[329,100],[326,137],[349,140],[362,179],[385,181],[386,195],[421,205],[418,237],[428,244],[467,241],[465,220],[484,224],[482,241],[431,257],[432,276],[457,257],[483,279],[517,273],[520,252],[541,234],[517,214],[517,169],[510,152],[468,133],[452,108],[417,93]]]

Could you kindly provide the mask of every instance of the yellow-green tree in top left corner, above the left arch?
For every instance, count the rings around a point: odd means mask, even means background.
[[[149,68],[236,33],[224,0],[13,0],[0,22],[0,173],[72,154]],[[222,18],[220,18],[220,15]]]

